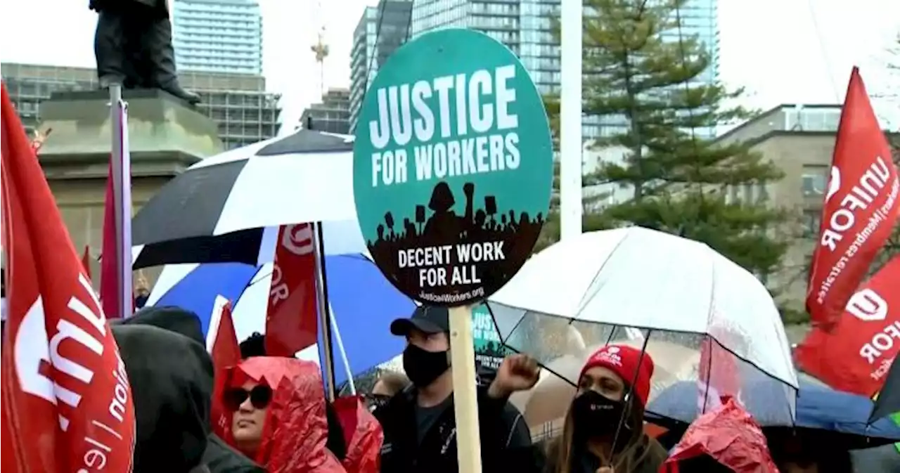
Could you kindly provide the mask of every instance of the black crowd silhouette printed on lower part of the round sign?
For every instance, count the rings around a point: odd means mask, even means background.
[[[456,199],[450,185],[445,181],[435,184],[428,206],[411,203],[409,215],[393,215],[387,212],[384,221],[375,228],[377,238],[366,242],[369,252],[378,262],[382,271],[392,278],[407,294],[418,294],[419,289],[435,295],[454,294],[483,288],[491,294],[509,281],[509,278],[527,260],[535,245],[544,216],[537,214],[532,219],[527,212],[507,210],[500,212],[496,196],[486,195],[483,206],[476,208],[475,184],[463,185],[465,199],[464,215],[456,215]],[[402,221],[402,225],[398,224]],[[475,264],[480,284],[467,287],[449,284],[450,274],[457,264],[445,264],[448,285],[437,288],[419,288],[419,267],[399,268],[397,253],[409,248],[423,248],[440,245],[472,244],[502,241],[503,261]],[[451,251],[455,261],[455,250]]]

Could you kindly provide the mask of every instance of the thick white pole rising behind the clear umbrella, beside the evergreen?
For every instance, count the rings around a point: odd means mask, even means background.
[[[560,15],[560,236],[581,235],[582,1],[563,2]]]

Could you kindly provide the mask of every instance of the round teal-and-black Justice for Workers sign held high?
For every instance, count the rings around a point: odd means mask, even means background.
[[[477,31],[433,31],[380,68],[356,126],[356,214],[374,262],[431,305],[499,290],[550,207],[553,143],[518,58]]]

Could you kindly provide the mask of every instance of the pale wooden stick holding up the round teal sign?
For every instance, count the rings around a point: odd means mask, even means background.
[[[475,390],[475,346],[472,307],[450,308],[450,362],[456,415],[456,458],[460,473],[481,473],[482,439]]]

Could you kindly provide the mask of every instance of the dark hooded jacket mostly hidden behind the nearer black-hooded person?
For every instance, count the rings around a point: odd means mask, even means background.
[[[176,307],[148,307],[139,310],[133,317],[120,320],[116,319],[114,323],[121,326],[155,326],[184,335],[200,344],[201,348],[203,348],[204,358],[209,359],[209,355],[206,354],[204,348],[205,340],[203,339],[200,317],[197,317],[193,312]],[[125,364],[127,369],[128,361]],[[203,376],[209,380],[211,386],[211,365],[210,370],[203,373]],[[211,398],[211,388],[207,396],[207,399]],[[209,406],[207,406],[207,409],[209,409]],[[206,411],[206,416],[209,417],[209,410]],[[210,469],[211,473],[265,473],[266,471],[240,452],[232,449],[214,433],[209,433],[202,462]],[[139,472],[135,470],[135,473]]]

